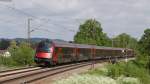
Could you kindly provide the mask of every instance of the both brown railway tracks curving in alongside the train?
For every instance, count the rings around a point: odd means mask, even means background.
[[[120,59],[121,60],[121,59]],[[88,62],[73,63],[62,66],[55,66],[51,68],[42,67],[28,67],[21,69],[14,69],[0,72],[0,84],[24,84],[34,83],[40,79],[51,77],[53,75],[77,69],[83,66],[94,63],[101,63],[108,60],[95,60]]]

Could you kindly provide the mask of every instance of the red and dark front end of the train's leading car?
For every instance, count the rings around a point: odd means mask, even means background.
[[[53,45],[49,40],[41,41],[37,48],[34,61],[38,65],[50,65],[52,62]]]

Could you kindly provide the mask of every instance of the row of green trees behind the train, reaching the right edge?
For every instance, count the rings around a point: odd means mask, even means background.
[[[143,54],[150,55],[150,29],[144,30],[140,39],[129,34],[122,33],[110,38],[103,32],[101,23],[95,19],[88,19],[79,26],[79,31],[74,36],[74,42],[79,44],[91,44],[98,46],[131,48]]]

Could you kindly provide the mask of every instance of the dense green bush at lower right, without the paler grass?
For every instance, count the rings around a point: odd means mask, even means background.
[[[124,75],[126,77],[137,77],[142,84],[149,84],[150,75],[145,68],[139,67],[136,61],[118,63],[108,67],[108,76],[112,78]]]

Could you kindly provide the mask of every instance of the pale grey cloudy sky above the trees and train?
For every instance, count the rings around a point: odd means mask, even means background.
[[[0,38],[73,40],[87,19],[96,19],[109,37],[139,39],[150,27],[150,0],[0,0]]]

